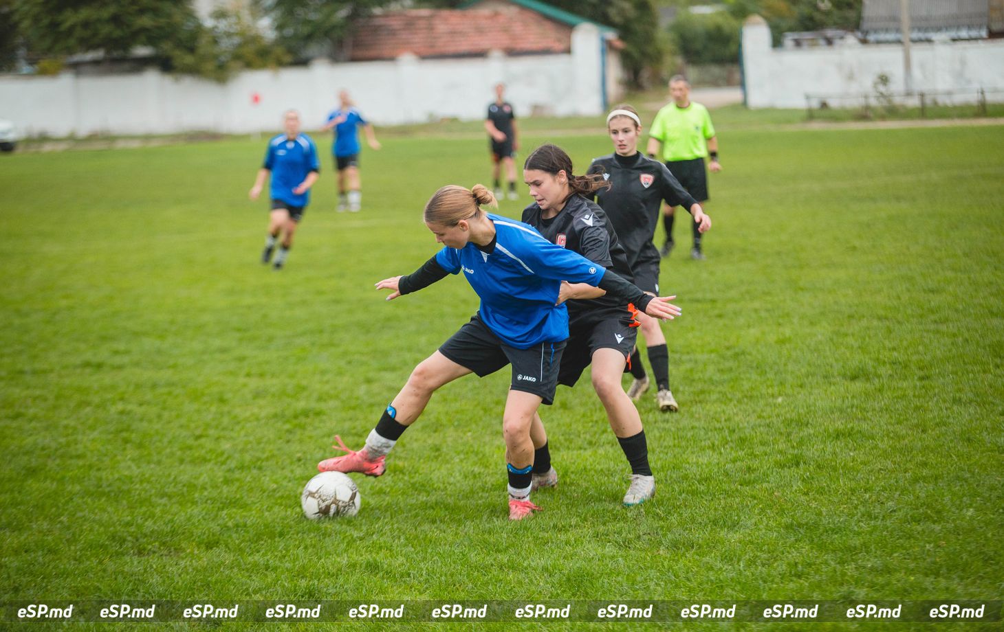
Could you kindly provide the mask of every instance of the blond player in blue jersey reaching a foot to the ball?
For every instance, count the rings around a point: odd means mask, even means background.
[[[376,283],[392,291],[387,297],[392,300],[463,272],[481,298],[478,313],[415,368],[361,449],[348,449],[336,436],[339,449],[348,453],[317,468],[383,475],[388,452],[438,388],[468,373],[485,376],[512,364],[502,431],[509,519],[522,520],[540,509],[530,502],[530,426],[540,404],[553,401],[568,337],[568,311],[559,302],[562,281],[598,286],[655,318],[674,318],[680,310],[669,299],[649,296],[602,266],[551,244],[533,228],[485,213],[481,205],[497,205],[481,185],[473,191],[440,189],[426,205],[424,219],[444,248],[413,274]]]

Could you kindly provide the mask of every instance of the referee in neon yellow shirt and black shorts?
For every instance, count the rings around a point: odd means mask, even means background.
[[[711,124],[708,108],[690,100],[690,83],[683,75],[674,75],[670,79],[670,95],[673,102],[659,110],[652,121],[648,153],[664,161],[684,189],[707,210],[705,202],[708,201],[708,175],[704,166],[705,159],[710,157],[709,170],[716,173],[722,171],[722,166],[718,164],[715,126]],[[671,206],[663,209],[663,227],[666,229],[666,243],[660,250],[663,257],[673,250],[673,211],[674,207]],[[698,227],[696,223],[691,225],[694,233],[691,257],[704,259]]]

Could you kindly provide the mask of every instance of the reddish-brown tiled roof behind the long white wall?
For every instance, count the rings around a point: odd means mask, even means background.
[[[348,52],[351,61],[419,57],[566,53],[571,27],[536,11],[511,6],[492,9],[405,9],[358,22]]]

